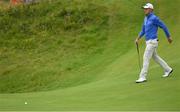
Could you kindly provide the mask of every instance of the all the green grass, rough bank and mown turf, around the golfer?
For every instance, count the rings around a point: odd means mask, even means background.
[[[174,39],[169,45],[159,31],[158,52],[173,75],[161,78],[152,61],[148,82],[134,83],[144,2],[62,0],[1,9],[0,110],[180,110],[179,0],[152,1]],[[142,41],[141,56],[144,48]]]

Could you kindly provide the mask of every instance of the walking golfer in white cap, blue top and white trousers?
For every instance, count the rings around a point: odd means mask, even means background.
[[[165,24],[153,13],[153,5],[147,3],[142,7],[144,9],[145,18],[142,26],[142,31],[139,33],[139,36],[136,38],[135,43],[138,44],[139,40],[145,35],[146,39],[146,49],[143,56],[143,68],[139,74],[139,79],[136,80],[136,83],[141,83],[146,81],[146,76],[148,73],[148,67],[150,59],[153,58],[156,63],[158,63],[164,69],[163,77],[168,77],[173,69],[157,54],[158,47],[158,37],[157,31],[158,27],[162,28],[165,32],[167,40],[169,43],[172,43],[172,38],[170,33],[165,26]]]

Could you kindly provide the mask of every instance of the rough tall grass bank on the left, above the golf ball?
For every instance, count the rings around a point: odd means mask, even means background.
[[[74,76],[74,72],[89,57],[103,52],[108,40],[107,12],[105,5],[80,0],[1,9],[0,92],[87,83],[86,77],[79,82],[80,74]]]

